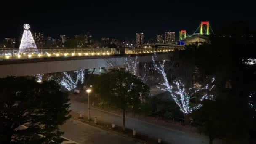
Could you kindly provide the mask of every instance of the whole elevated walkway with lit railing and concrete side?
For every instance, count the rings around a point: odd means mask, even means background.
[[[123,65],[124,59],[138,56],[140,62],[152,61],[152,53],[159,60],[168,59],[171,51],[184,50],[184,45],[158,48],[37,48],[19,53],[19,48],[0,48],[0,77],[26,76],[79,69],[109,67],[106,61],[115,59]]]

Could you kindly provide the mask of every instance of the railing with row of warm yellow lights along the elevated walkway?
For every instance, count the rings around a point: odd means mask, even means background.
[[[158,48],[0,48],[0,60],[157,53],[183,49],[184,45]]]

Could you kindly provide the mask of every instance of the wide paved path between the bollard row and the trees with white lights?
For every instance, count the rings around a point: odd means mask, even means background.
[[[82,112],[87,115],[87,105],[71,101],[70,109],[74,112]],[[120,115],[111,114],[109,112],[102,112],[91,108],[91,117],[97,117],[98,120],[107,123],[115,123],[116,125],[122,124],[122,117]],[[188,133],[184,131],[165,128],[159,125],[147,123],[141,120],[126,118],[126,127],[136,129],[137,133],[147,134],[155,139],[160,137],[163,141],[170,144],[208,144],[208,138],[196,133]],[[69,138],[67,136],[67,138]],[[74,139],[72,139],[74,140]],[[223,144],[221,141],[214,141],[213,144]]]

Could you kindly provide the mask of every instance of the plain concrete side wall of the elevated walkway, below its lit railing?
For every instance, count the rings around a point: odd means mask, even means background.
[[[168,59],[173,53],[158,53],[158,60]],[[131,55],[135,59],[136,55]],[[66,72],[79,69],[90,69],[98,67],[109,67],[107,61],[116,61],[117,65],[123,65],[126,56],[111,56],[107,58],[88,58],[85,59],[70,59],[58,61],[45,61],[45,62],[23,62],[18,61],[13,64],[0,65],[0,77],[7,76],[26,76],[36,74],[46,74],[54,72]],[[152,54],[138,55],[140,62],[152,61]]]

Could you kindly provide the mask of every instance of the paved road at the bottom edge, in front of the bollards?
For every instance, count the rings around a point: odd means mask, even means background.
[[[77,120],[68,120],[59,128],[65,132],[64,137],[79,144],[139,144]]]

